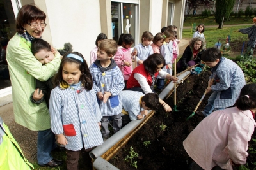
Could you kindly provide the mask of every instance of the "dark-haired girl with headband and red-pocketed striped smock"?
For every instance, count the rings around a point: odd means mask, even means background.
[[[83,55],[78,52],[64,55],[53,82],[56,87],[49,101],[51,130],[57,142],[67,149],[67,169],[78,169],[80,151],[84,163],[92,168],[89,152],[103,143],[102,114]]]

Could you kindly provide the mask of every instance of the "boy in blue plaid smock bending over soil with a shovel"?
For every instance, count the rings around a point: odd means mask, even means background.
[[[245,79],[241,68],[232,60],[222,57],[218,48],[208,48],[202,53],[201,59],[206,66],[211,67],[212,74],[206,90],[207,93],[213,92],[204,111],[196,111],[196,113],[207,117],[212,111],[233,106],[245,85]],[[215,84],[212,83],[212,78]]]

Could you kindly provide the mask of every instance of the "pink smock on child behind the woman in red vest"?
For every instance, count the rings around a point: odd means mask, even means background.
[[[123,48],[122,46],[118,46],[114,60],[117,66],[120,68],[124,76],[124,80],[128,80],[128,78],[131,76],[131,73],[133,71],[130,48],[126,49],[126,48]],[[130,67],[122,66],[124,64],[123,60],[130,62],[131,66]],[[124,69],[126,69],[126,71]]]

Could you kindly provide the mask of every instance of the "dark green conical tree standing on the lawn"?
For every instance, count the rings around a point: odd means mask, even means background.
[[[229,18],[234,4],[235,0],[216,0],[215,20],[219,24],[219,29],[223,27],[224,18]]]

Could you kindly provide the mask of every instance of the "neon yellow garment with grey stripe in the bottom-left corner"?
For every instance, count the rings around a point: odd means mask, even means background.
[[[0,170],[30,170],[33,165],[24,157],[20,146],[0,117]]]

